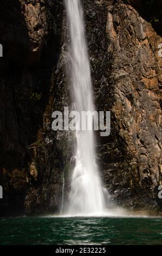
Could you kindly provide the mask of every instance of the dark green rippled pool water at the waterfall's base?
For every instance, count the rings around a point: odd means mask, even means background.
[[[162,245],[162,219],[0,218],[0,245]]]

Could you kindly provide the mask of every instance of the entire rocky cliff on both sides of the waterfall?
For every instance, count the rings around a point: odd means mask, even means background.
[[[103,183],[119,204],[160,212],[161,20],[145,1],[83,4],[94,100],[111,111],[110,136],[96,133]],[[52,112],[70,106],[63,1],[6,0],[2,10],[0,215],[54,212],[73,155],[73,135],[51,129]]]

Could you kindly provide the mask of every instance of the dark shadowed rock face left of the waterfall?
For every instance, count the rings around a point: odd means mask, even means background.
[[[60,160],[54,138],[46,139],[46,132],[62,16],[61,1],[1,1],[1,215],[48,211],[58,205]]]

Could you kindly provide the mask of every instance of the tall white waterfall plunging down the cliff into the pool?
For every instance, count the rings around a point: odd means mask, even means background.
[[[92,82],[80,0],[65,0],[70,34],[71,86],[76,110],[94,111]],[[95,162],[94,131],[76,131],[76,163],[66,209],[70,215],[102,213],[105,199]]]

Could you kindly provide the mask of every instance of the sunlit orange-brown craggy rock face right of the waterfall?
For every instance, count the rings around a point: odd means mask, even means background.
[[[127,197],[135,208],[142,200],[152,205],[149,198],[157,198],[161,184],[161,37],[122,1],[108,4],[106,29],[114,91],[111,111],[127,164],[113,176],[110,169],[105,174],[118,185],[115,192],[124,204]]]

